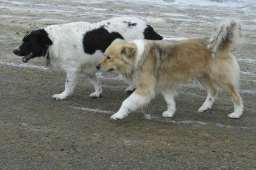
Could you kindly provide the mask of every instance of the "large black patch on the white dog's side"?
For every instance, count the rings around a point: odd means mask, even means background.
[[[115,39],[124,39],[118,32],[108,32],[104,27],[94,29],[84,35],[83,45],[84,52],[94,54],[96,50],[105,52],[108,46]]]

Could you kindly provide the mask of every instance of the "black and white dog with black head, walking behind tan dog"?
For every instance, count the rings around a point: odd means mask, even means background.
[[[67,99],[74,92],[80,74],[87,75],[95,92],[90,96],[98,98],[102,94],[101,84],[95,73],[96,65],[104,58],[104,52],[115,39],[130,41],[134,39],[168,39],[138,18],[120,17],[102,22],[73,22],[51,25],[44,29],[29,32],[22,44],[14,49],[14,54],[24,56],[23,62],[41,56],[46,65],[67,72],[65,91],[55,94],[56,100]],[[185,38],[174,38],[179,41]],[[127,91],[135,87],[129,86]]]

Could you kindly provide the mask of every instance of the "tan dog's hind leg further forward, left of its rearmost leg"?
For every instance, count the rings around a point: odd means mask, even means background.
[[[198,81],[204,86],[207,91],[207,98],[204,104],[198,109],[198,112],[205,112],[207,109],[211,109],[214,100],[217,97],[217,89],[215,88],[212,80],[208,76],[202,76],[198,78]]]

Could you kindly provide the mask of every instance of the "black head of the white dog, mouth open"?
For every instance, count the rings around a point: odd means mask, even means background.
[[[48,46],[52,45],[52,41],[44,29],[29,32],[22,41],[22,44],[14,49],[14,54],[24,56],[23,62],[28,62],[29,59],[36,56],[45,56]]]

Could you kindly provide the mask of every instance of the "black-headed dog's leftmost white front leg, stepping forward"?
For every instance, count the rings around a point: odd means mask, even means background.
[[[61,101],[67,99],[68,96],[72,95],[77,85],[78,78],[80,73],[79,72],[67,72],[67,80],[65,84],[65,91],[61,94],[55,94],[52,98],[56,99],[56,101]]]

